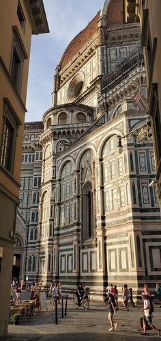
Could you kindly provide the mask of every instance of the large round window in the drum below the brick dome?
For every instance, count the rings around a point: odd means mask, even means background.
[[[84,75],[83,73],[77,73],[77,75],[70,82],[70,86],[68,88],[68,101],[72,102],[74,99],[81,94],[84,84]]]

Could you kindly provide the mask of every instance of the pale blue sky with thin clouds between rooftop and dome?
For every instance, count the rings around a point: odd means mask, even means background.
[[[42,121],[50,108],[53,77],[70,41],[102,8],[104,0],[43,0],[49,34],[32,36],[26,122]]]

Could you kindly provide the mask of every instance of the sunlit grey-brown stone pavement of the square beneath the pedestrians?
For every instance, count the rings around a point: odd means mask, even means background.
[[[141,302],[140,307],[143,307]],[[138,306],[138,307],[139,307]],[[147,331],[148,336],[141,336],[139,320],[143,313],[138,307],[130,307],[125,312],[120,306],[115,321],[118,327],[115,331],[110,328],[106,306],[102,302],[90,303],[90,309],[85,311],[68,301],[67,316],[61,318],[61,305],[58,305],[58,324],[55,325],[55,312],[51,310],[48,298],[48,311],[34,313],[31,321],[24,320],[20,325],[9,325],[8,336],[0,337],[1,341],[161,341],[155,330]],[[161,308],[155,307],[153,324],[161,328]]]

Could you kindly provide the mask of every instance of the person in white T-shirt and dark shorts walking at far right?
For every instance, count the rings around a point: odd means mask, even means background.
[[[143,333],[142,335],[147,335],[147,325],[153,329],[156,329],[158,331],[158,335],[160,336],[160,329],[157,329],[152,324],[152,313],[153,313],[153,303],[149,301],[148,296],[145,294],[145,292],[142,292],[141,297],[144,302],[143,309],[139,309],[139,312],[144,312],[143,316]]]

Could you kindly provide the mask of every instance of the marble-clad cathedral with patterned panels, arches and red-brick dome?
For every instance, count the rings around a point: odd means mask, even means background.
[[[106,0],[61,55],[52,105],[26,123],[16,231],[20,277],[110,283],[161,278],[160,210],[135,1]],[[15,255],[18,255],[18,248]]]

